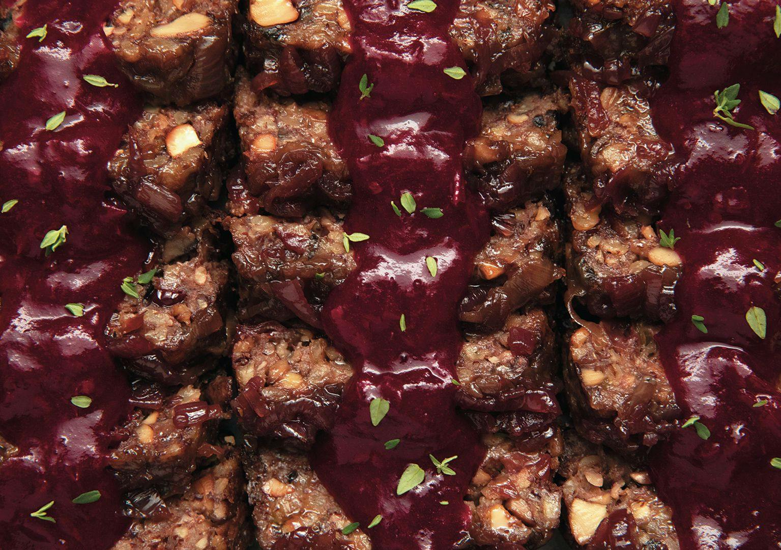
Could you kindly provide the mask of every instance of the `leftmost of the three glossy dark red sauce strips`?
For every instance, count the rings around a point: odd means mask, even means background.
[[[127,528],[105,465],[130,389],[102,330],[149,245],[105,198],[106,162],[140,112],[102,34],[111,9],[27,0],[22,36],[46,25],[45,37],[23,41],[0,86],[0,203],[18,201],[0,214],[0,548],[108,548]],[[66,241],[47,254],[41,241],[62,226]],[[87,491],[100,499],[72,502]]]

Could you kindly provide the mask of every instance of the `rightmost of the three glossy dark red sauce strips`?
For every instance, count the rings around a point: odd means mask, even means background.
[[[676,0],[671,76],[653,101],[680,159],[661,225],[680,238],[684,266],[678,315],[658,343],[684,418],[699,416],[710,435],[679,430],[655,448],[652,471],[682,548],[768,550],[781,547],[781,470],[771,464],[781,457],[781,115],[759,91],[781,95],[781,39],[776,2],[728,6],[719,29],[719,5]],[[714,116],[714,91],[733,84],[733,120],[754,129]]]

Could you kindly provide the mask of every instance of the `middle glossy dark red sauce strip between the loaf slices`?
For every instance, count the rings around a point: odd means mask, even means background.
[[[480,99],[469,76],[444,73],[463,67],[448,38],[456,0],[437,2],[430,13],[394,0],[345,4],[353,57],[330,127],[355,185],[348,233],[369,240],[350,243],[358,270],[323,309],[327,334],[358,374],[312,461],[363,529],[382,516],[366,530],[377,548],[453,548],[466,536],[463,495],[484,452],[455,411],[452,382],[461,347],[458,302],[489,232],[487,212],[462,177]],[[361,99],[363,74],[373,87]],[[413,213],[401,201],[404,193],[415,200]],[[425,209],[441,209],[442,216]],[[377,426],[369,415],[373,398],[390,403]],[[395,448],[383,445],[394,439],[401,440]],[[429,455],[458,455],[448,463],[455,475],[437,473]],[[410,464],[425,470],[425,480],[397,495]]]

